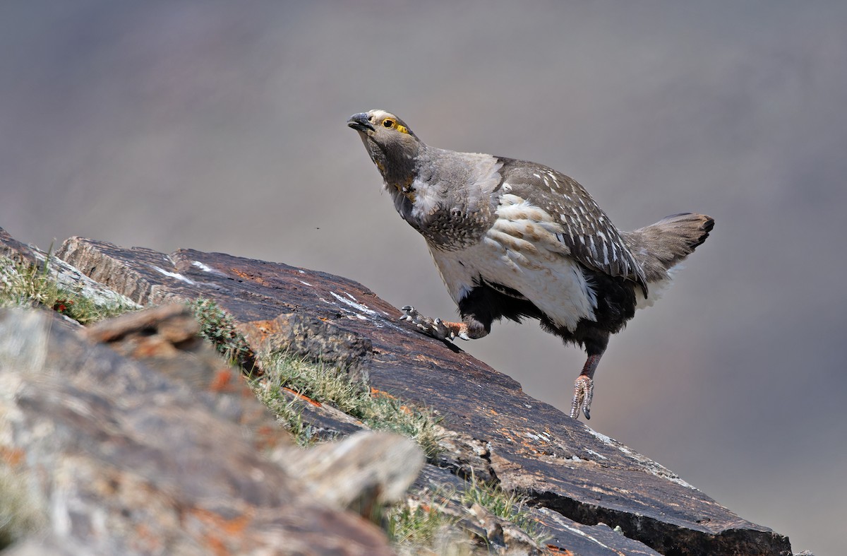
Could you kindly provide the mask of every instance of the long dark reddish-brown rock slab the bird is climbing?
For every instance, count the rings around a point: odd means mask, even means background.
[[[786,537],[739,518],[670,470],[530,398],[518,382],[456,346],[398,322],[397,309],[357,282],[222,253],[164,255],[80,238],[65,242],[58,255],[138,303],[210,297],[244,325],[299,314],[300,322],[317,319],[334,334],[370,342],[372,357],[363,366],[371,386],[435,409],[448,430],[487,447],[482,456],[446,454],[442,464],[461,467],[481,457],[487,469],[475,470],[478,476],[495,476],[568,520],[618,527],[659,553],[790,554]],[[257,347],[268,341],[247,339]]]

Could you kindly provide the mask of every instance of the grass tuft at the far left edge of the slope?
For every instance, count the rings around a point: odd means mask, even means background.
[[[50,255],[47,255],[47,260]],[[79,290],[59,285],[47,260],[36,266],[0,256],[0,307],[42,306],[82,325],[135,309],[124,303],[97,303]]]

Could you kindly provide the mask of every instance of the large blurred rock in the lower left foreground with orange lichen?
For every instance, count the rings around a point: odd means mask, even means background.
[[[190,387],[53,324],[0,309],[0,469],[47,522],[20,553],[392,553]]]

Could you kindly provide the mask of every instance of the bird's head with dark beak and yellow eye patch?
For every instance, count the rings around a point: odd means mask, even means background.
[[[371,110],[353,114],[347,125],[359,132],[386,183],[397,185],[411,178],[423,143],[406,122],[385,110]]]

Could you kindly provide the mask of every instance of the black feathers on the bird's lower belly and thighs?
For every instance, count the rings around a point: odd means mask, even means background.
[[[506,317],[520,322],[529,317],[539,320],[545,331],[561,337],[564,342],[577,343],[586,348],[602,343],[605,348],[608,336],[620,331],[635,315],[635,283],[585,267],[583,272],[597,297],[595,320],[581,319],[573,331],[554,324],[520,292],[485,281],[480,281],[462,298],[459,312],[462,318],[469,315],[478,320],[486,332],[490,332],[494,320]]]

